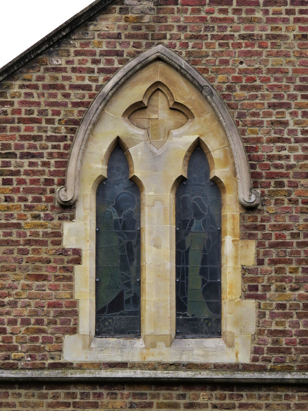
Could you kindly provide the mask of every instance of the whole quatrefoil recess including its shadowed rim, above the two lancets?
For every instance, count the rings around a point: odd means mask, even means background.
[[[168,140],[170,130],[176,130],[194,118],[191,111],[175,101],[169,88],[161,82],[152,84],[142,101],[132,104],[123,117],[134,126],[146,129],[149,140],[158,150]]]

